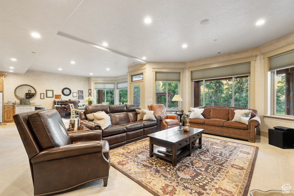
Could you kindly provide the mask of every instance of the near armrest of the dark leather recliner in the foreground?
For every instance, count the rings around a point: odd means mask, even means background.
[[[31,158],[31,163],[41,163],[56,159],[74,157],[89,153],[97,153],[102,151],[101,141],[91,141],[85,143],[69,144],[55,148],[49,148],[41,151],[38,155]]]

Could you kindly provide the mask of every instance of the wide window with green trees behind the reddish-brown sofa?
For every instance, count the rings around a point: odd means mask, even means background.
[[[234,76],[194,81],[194,107],[209,105],[248,108],[248,78]]]

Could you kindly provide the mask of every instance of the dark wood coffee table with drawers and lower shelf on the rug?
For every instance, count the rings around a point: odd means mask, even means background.
[[[190,128],[190,131],[178,131],[178,127],[166,129],[156,133],[147,135],[150,138],[150,150],[149,156],[153,157],[156,155],[165,160],[171,161],[173,167],[177,166],[177,161],[186,157],[191,156],[192,152],[197,148],[202,148],[202,132],[203,129]],[[197,141],[195,147],[192,148],[192,142]],[[154,145],[158,145],[164,148],[172,150],[172,155],[158,152],[158,148],[153,149]],[[177,155],[177,150],[181,152]]]

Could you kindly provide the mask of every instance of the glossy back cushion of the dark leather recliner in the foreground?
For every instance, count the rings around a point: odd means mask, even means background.
[[[64,146],[71,143],[69,134],[57,110],[42,110],[28,116],[39,146],[42,149]]]

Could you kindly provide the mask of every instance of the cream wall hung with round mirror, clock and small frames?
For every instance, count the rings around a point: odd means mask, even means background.
[[[72,93],[81,90],[83,99],[80,101],[86,102],[85,98],[88,97],[88,77],[28,70],[25,74],[7,73],[4,77],[4,102],[14,102],[14,100],[19,102],[19,99],[14,96],[14,89],[21,84],[28,84],[36,89],[36,97],[30,102],[42,105],[45,109],[52,109],[55,94],[61,94],[61,99],[64,100],[75,100],[78,97],[72,97]],[[65,87],[71,89],[70,96],[64,96],[61,93]],[[46,98],[46,90],[53,90],[53,98]],[[40,93],[44,93],[44,99],[40,99]]]

